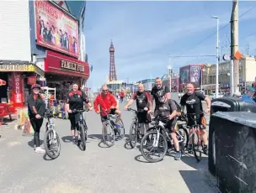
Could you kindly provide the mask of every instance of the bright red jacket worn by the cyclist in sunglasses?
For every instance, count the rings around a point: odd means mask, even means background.
[[[93,106],[94,106],[94,110],[95,112],[99,112],[99,107],[104,110],[107,111],[110,109],[111,106],[116,107],[117,103],[115,101],[115,97],[111,94],[99,94],[94,102],[93,102]]]

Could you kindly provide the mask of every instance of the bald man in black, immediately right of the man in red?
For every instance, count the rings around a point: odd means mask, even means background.
[[[141,125],[140,138],[143,138],[149,128],[148,117],[150,116],[149,113],[152,112],[152,102],[150,94],[145,91],[143,84],[138,85],[138,90],[139,91],[132,95],[129,102],[125,105],[124,110],[127,110],[127,108],[131,106],[132,102],[136,100],[138,123]]]

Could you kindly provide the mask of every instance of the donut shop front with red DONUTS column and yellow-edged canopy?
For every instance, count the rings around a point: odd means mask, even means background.
[[[1,103],[12,103],[14,107],[23,107],[29,95],[30,85],[35,84],[44,71],[32,64],[0,65],[0,79],[6,84],[0,86]]]

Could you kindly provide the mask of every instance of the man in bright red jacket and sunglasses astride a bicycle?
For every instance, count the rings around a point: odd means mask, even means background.
[[[116,120],[116,128],[120,128],[120,125],[118,124],[120,122],[121,112],[117,108],[117,103],[115,101],[114,95],[111,95],[109,93],[109,87],[104,85],[101,88],[101,93],[95,98],[93,105],[94,110],[96,113],[100,113],[101,122],[103,123],[103,126],[105,128],[105,122],[106,117],[108,113],[110,114],[117,114],[119,117]]]

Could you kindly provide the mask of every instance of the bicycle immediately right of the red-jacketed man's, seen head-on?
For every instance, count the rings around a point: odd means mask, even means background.
[[[133,118],[133,121],[131,122],[131,127],[130,127],[130,135],[129,135],[129,142],[131,145],[131,149],[134,149],[136,146],[137,140],[139,139],[139,136],[141,136],[141,124],[138,123],[138,117],[137,114],[138,112],[145,112],[144,110],[142,111],[136,111],[135,109],[132,108],[127,108],[127,111],[135,112],[135,117]],[[133,134],[134,132],[134,134]],[[134,135],[134,139],[132,136]]]

